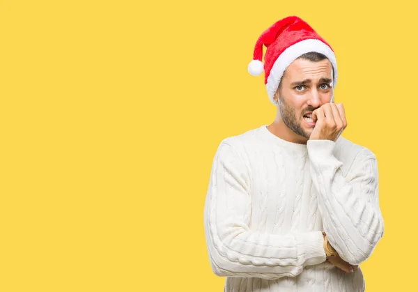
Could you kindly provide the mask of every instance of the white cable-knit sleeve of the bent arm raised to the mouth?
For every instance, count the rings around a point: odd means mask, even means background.
[[[309,140],[311,177],[318,191],[323,229],[341,259],[353,265],[366,261],[384,233],[378,197],[376,156],[363,148],[346,176],[333,154],[331,140]]]

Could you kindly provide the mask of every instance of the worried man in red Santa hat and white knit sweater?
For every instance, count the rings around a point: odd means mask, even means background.
[[[226,277],[225,291],[364,291],[358,265],[384,232],[378,165],[341,136],[334,52],[286,17],[257,40],[249,72],[263,71],[277,117],[224,139],[212,164],[204,210],[212,270]]]

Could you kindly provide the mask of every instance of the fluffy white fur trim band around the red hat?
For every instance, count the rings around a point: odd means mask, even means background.
[[[294,45],[291,45],[290,47],[285,49],[284,52],[280,54],[279,58],[277,58],[277,60],[274,62],[272,70],[270,70],[270,74],[267,78],[266,89],[268,93],[268,98],[274,105],[276,105],[276,103],[273,100],[274,94],[279,88],[279,82],[284,74],[284,71],[286,70],[286,68],[288,68],[289,65],[291,65],[293,61],[295,61],[295,59],[302,56],[302,54],[309,52],[318,52],[327,56],[327,58],[330,60],[332,64],[332,67],[334,67],[333,86],[336,86],[336,58],[334,52],[332,52],[332,49],[320,40],[301,40],[299,43],[295,43]]]

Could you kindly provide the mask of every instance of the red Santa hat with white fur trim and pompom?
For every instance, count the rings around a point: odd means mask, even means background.
[[[267,47],[263,64],[263,45]],[[279,88],[286,68],[302,54],[318,52],[327,56],[334,68],[333,86],[336,85],[336,59],[330,45],[314,29],[297,16],[289,16],[274,23],[265,30],[256,42],[253,60],[248,72],[253,76],[265,72],[264,83],[270,101]]]

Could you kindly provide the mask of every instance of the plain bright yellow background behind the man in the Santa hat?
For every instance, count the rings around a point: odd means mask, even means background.
[[[0,291],[223,291],[203,205],[222,139],[271,123],[258,36],[334,48],[343,136],[378,157],[366,291],[416,286],[416,9],[381,1],[1,1]],[[410,255],[407,255],[410,253]]]

